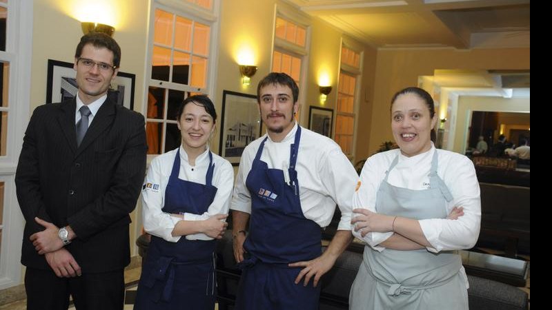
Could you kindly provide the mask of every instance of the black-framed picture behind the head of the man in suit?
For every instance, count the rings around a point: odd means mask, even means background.
[[[72,63],[48,59],[46,103],[61,102],[77,95],[77,72]],[[136,75],[119,71],[111,82],[108,96],[119,105],[134,108]]]

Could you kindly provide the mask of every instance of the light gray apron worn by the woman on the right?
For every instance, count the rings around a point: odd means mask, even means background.
[[[437,150],[431,161],[430,189],[413,190],[387,183],[386,171],[377,192],[377,213],[422,220],[446,218],[451,192],[437,176]],[[468,293],[460,255],[451,251],[434,254],[426,249],[375,251],[364,248],[364,260],[353,282],[349,309],[468,309]]]

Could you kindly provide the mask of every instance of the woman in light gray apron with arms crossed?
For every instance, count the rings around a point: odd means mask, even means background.
[[[409,87],[391,102],[400,149],[366,161],[355,193],[353,235],[364,260],[350,309],[468,309],[468,282],[454,250],[475,245],[480,191],[473,163],[435,149],[433,99]]]

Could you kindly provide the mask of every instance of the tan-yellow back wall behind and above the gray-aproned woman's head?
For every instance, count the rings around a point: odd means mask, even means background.
[[[433,75],[436,69],[529,70],[530,49],[379,50],[373,108],[371,114],[364,111],[359,115],[359,118],[371,118],[368,152],[357,152],[358,159],[373,154],[383,141],[393,140],[389,115],[393,94],[404,87],[417,85],[418,76]]]

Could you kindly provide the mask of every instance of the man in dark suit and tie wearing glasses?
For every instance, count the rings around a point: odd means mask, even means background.
[[[128,215],[146,169],[144,116],[108,98],[121,49],[81,38],[75,99],[34,110],[15,183],[26,220],[21,263],[27,309],[123,309]]]

